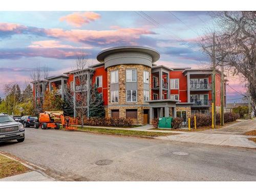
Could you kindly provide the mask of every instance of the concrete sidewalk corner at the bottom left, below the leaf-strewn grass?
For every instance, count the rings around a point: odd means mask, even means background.
[[[3,179],[0,179],[0,181],[54,181],[54,180],[33,170],[32,172],[27,172],[25,174],[3,178]]]

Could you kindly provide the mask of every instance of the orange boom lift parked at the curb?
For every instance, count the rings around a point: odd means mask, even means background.
[[[59,130],[60,124],[65,126],[65,119],[62,111],[46,111],[39,114],[39,122],[36,122],[34,127],[42,130],[55,129]]]

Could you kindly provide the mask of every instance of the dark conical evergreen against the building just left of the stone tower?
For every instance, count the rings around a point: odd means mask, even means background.
[[[104,117],[104,114],[102,96],[99,94],[96,84],[94,84],[89,101],[89,117]]]

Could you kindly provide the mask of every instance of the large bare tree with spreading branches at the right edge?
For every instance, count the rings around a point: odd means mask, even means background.
[[[256,12],[222,11],[214,12],[211,16],[218,26],[216,62],[223,62],[228,73],[246,83],[256,103]],[[212,34],[208,33],[202,44],[204,52],[210,53]]]

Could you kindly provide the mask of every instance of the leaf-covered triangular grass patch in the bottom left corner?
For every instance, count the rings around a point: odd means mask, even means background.
[[[17,161],[0,155],[0,179],[29,172],[30,169]]]

